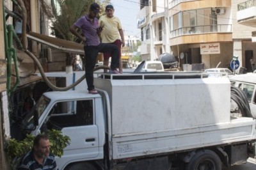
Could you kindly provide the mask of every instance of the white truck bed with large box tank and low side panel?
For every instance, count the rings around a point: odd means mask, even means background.
[[[204,73],[105,75],[113,159],[255,139],[255,120],[230,117],[230,81]]]

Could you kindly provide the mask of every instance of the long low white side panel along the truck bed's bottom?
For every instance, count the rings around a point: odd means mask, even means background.
[[[250,141],[254,134],[255,120],[234,118],[229,123],[189,129],[113,135],[113,159]]]

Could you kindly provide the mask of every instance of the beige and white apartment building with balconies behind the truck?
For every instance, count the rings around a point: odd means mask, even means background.
[[[238,56],[240,67],[250,71],[250,59],[256,52],[252,41],[255,28],[240,24],[243,19],[237,17],[239,4],[244,2],[140,0],[142,58],[154,60],[169,52],[179,59],[180,66],[204,63],[204,68],[214,68],[227,67],[233,56]]]

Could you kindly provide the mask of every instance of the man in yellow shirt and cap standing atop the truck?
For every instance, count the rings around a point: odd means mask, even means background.
[[[114,16],[114,7],[108,4],[105,8],[106,15],[103,15],[99,19],[99,26],[102,27],[101,38],[102,43],[113,43],[118,46],[119,49],[119,72],[123,73],[122,59],[121,59],[121,47],[124,47],[124,32],[122,25],[118,17]],[[109,58],[111,57],[110,52],[104,52],[103,65],[108,66]],[[106,70],[104,70],[106,72]]]

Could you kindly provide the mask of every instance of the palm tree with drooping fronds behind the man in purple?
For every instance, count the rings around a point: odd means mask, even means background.
[[[76,22],[79,17],[88,13],[90,4],[94,0],[51,0],[51,4],[45,3],[44,0],[39,0],[42,4],[45,15],[51,22],[51,35],[56,38],[82,43],[79,38],[74,36],[69,31],[69,27]],[[102,6],[101,12],[104,12],[104,6],[110,3],[110,0],[96,1]],[[100,13],[102,15],[102,13]],[[76,59],[76,55],[67,54],[67,65],[72,65]]]

